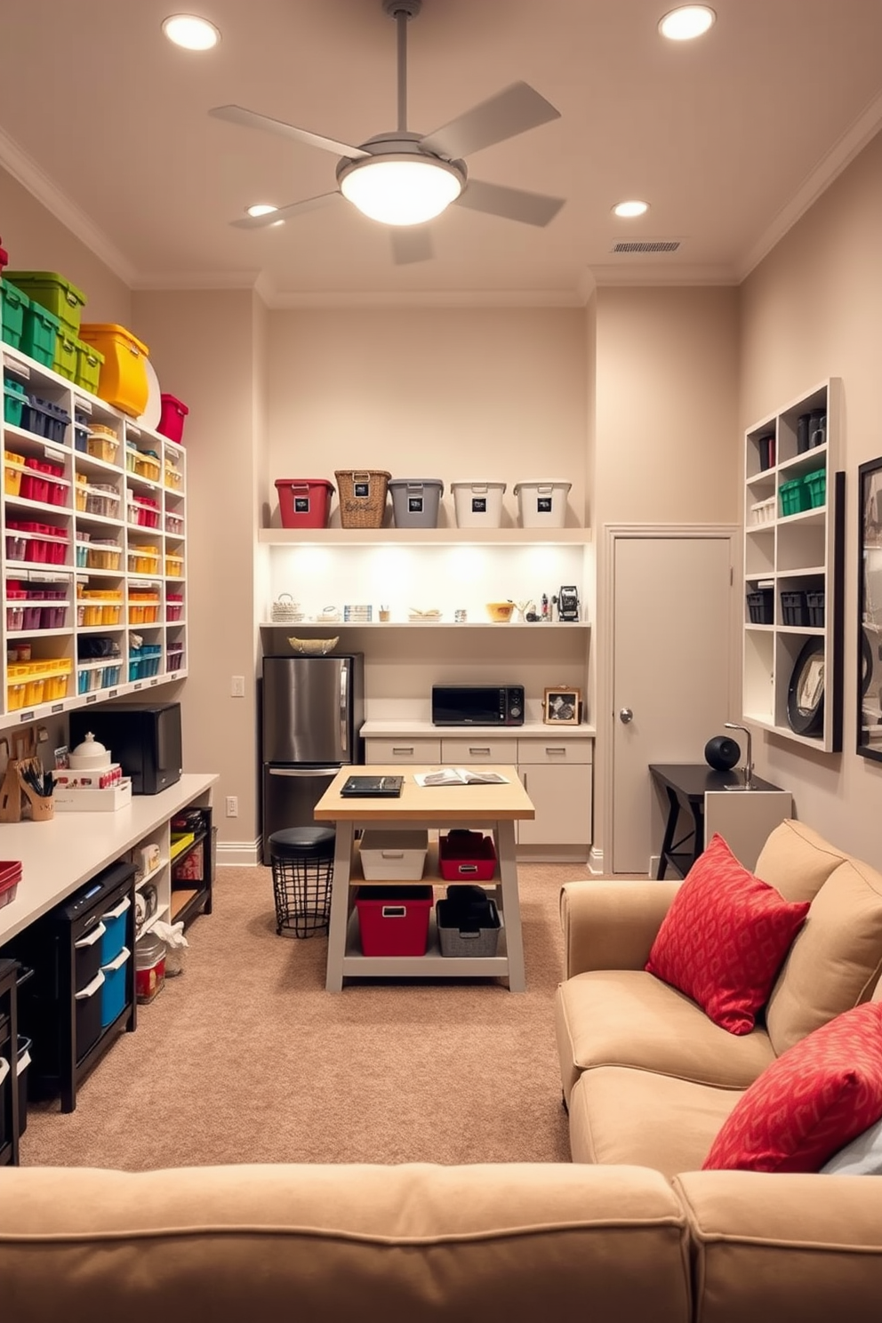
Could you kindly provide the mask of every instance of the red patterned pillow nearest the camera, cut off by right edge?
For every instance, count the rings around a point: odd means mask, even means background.
[[[828,1020],[739,1098],[705,1171],[820,1171],[882,1118],[882,1002]]]

